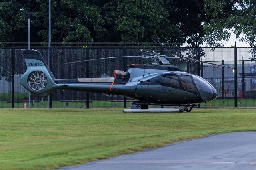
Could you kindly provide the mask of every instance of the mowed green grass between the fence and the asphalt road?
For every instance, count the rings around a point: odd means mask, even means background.
[[[256,109],[123,113],[0,109],[0,169],[54,169],[208,134],[256,130]]]

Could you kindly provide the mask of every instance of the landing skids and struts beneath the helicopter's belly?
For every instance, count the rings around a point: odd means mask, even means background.
[[[150,104],[150,103],[144,103],[141,101],[134,101],[132,103],[131,109],[124,109],[124,113],[130,113],[130,112],[190,112],[193,107],[195,106],[190,104],[185,105],[169,105],[166,104],[164,106],[183,106],[183,108],[154,108],[154,109],[148,109],[148,105],[159,105],[159,104]],[[163,105],[161,105],[163,106]]]

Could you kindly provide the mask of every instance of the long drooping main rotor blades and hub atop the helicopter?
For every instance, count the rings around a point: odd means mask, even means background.
[[[170,56],[166,56],[166,55],[160,55],[159,53],[150,53],[150,54],[146,54],[146,55],[135,55],[135,56],[120,56],[120,57],[107,57],[107,58],[88,59],[88,60],[82,60],[82,61],[68,62],[68,63],[64,63],[64,64],[80,63],[80,62],[86,62],[86,61],[94,61],[94,60],[101,60],[101,59],[111,59],[111,58],[114,59],[114,58],[134,58],[134,57],[149,58],[149,59],[151,59],[151,63],[154,64],[154,65],[160,64],[160,61],[161,61],[162,64],[170,64],[170,62],[166,59],[166,58],[170,58],[170,59],[180,59],[180,60],[185,60],[185,61],[194,61],[194,62],[199,62],[199,63],[206,63],[206,64],[210,64],[210,65],[217,65],[217,66],[220,66],[220,67],[226,67],[226,68],[234,69],[233,67],[228,67],[226,65],[214,64],[214,63],[210,63],[210,62],[206,62],[206,61],[199,61],[199,60],[196,60],[196,59],[188,59],[188,58],[180,58],[180,57],[170,57]]]

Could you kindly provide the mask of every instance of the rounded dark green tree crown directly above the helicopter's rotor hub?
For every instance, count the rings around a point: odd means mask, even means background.
[[[113,42],[182,41],[180,30],[168,21],[162,1],[112,0],[104,6],[108,40]]]

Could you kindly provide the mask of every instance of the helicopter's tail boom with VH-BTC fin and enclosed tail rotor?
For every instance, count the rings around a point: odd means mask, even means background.
[[[114,84],[114,77],[55,79],[39,51],[24,50],[23,56],[27,70],[20,78],[20,84],[30,91],[31,95],[45,97],[55,89],[118,95],[124,91],[122,85]]]

